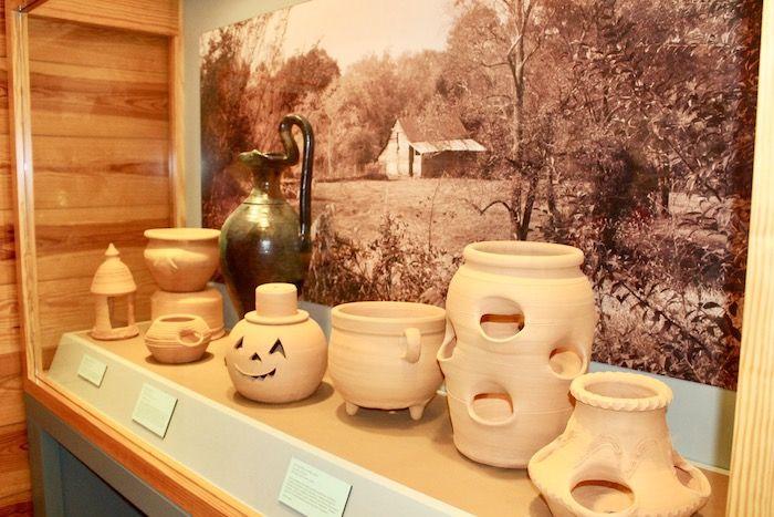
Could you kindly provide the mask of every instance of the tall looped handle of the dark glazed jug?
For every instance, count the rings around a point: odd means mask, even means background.
[[[312,248],[312,169],[314,168],[314,132],[312,124],[301,115],[285,115],[280,122],[280,137],[285,147],[286,162],[294,165],[299,162],[299,146],[293,138],[292,128],[296,126],[304,137],[304,156],[301,162],[301,188],[299,189],[299,219],[301,249]]]

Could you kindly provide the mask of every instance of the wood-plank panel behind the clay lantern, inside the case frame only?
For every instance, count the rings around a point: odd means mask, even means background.
[[[88,289],[109,242],[135,276],[137,318],[150,317],[156,288],[143,260],[143,231],[172,224],[169,39],[36,11],[29,38],[38,292],[48,364],[62,332],[93,323]]]

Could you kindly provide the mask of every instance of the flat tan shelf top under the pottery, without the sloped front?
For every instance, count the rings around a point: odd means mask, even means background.
[[[51,378],[65,391],[75,391],[79,399],[88,401],[84,394],[93,394],[96,389],[77,376],[73,378],[74,372],[63,370],[72,370],[84,351],[103,353],[105,359],[115,358],[124,369],[151,372],[221,407],[228,407],[255,423],[265,424],[282,435],[297,438],[377,476],[391,479],[408,488],[409,493],[416,490],[475,515],[551,515],[529,480],[526,471],[481,465],[466,458],[454,448],[451,423],[442,396],[433,399],[418,422],[409,417],[408,411],[362,409],[355,416],[348,416],[342,397],[327,379],[305,401],[282,405],[257,403],[239,395],[231,385],[223,359],[228,344],[228,338],[213,341],[202,360],[169,365],[156,362],[142,338],[111,342],[91,340],[85,333],[65,334],[57,359],[60,354],[67,354],[70,359],[61,359],[59,363],[55,360]],[[108,369],[107,375],[111,373]],[[95,403],[95,407],[98,410],[100,404]],[[129,425],[129,428],[151,445],[157,442],[155,436],[145,433],[139,426]],[[170,425],[170,433],[171,430]],[[219,436],[211,436],[210,440],[228,441],[229,430],[221,430]],[[255,440],[260,437],[257,436]],[[175,457],[175,452],[170,454]],[[198,471],[196,465],[192,469]],[[713,494],[700,515],[722,516],[728,477],[708,471],[704,473],[712,484]],[[280,474],[284,475],[284,471]],[[202,475],[207,476],[207,473]],[[229,486],[223,486],[223,483],[213,483],[229,492]],[[358,488],[357,484],[353,485],[354,496]],[[237,497],[245,499],[239,497],[239,494]],[[250,504],[249,500],[247,503]],[[436,509],[440,514],[449,513],[450,508],[443,506]],[[383,515],[383,511],[384,515],[390,514],[389,508],[374,510],[370,515]]]

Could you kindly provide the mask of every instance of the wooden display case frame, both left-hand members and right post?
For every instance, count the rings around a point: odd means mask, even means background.
[[[27,17],[46,0],[8,0],[9,120],[15,192],[15,245],[24,391],[170,500],[194,515],[249,515],[252,510],[179,465],[157,457],[146,444],[118,432],[46,382],[40,342]],[[64,3],[77,3],[65,0]],[[91,6],[102,1],[85,2]],[[118,2],[116,2],[118,3]],[[138,3],[136,1],[126,3]],[[142,2],[139,2],[142,3]],[[170,40],[170,155],[174,219],[184,224],[182,35],[169,28],[116,23],[109,17],[71,18],[91,24],[163,34]],[[726,515],[774,515],[774,0],[763,6],[753,199],[742,331],[742,355]]]

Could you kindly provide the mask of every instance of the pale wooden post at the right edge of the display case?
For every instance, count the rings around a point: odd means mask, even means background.
[[[728,515],[774,515],[774,2],[763,3],[747,278]]]

